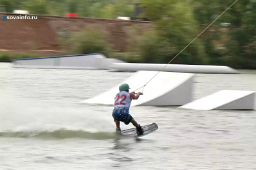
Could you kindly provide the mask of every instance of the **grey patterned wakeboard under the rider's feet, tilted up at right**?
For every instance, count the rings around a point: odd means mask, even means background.
[[[120,135],[128,137],[143,137],[145,135],[149,135],[149,133],[156,131],[158,129],[158,125],[156,123],[151,123],[142,126],[142,129],[144,130],[144,133],[142,135],[138,135],[136,128],[122,130],[120,132]]]

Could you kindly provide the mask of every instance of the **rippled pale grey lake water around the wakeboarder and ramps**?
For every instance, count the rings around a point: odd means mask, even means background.
[[[121,138],[113,106],[79,102],[133,73],[11,66],[0,63],[0,169],[256,169],[255,110],[132,106],[138,123],[159,129]],[[256,71],[196,74],[194,81],[194,99],[255,91]]]

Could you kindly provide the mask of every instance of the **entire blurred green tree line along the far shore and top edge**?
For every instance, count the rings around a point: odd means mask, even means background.
[[[116,19],[118,16],[126,16],[131,19],[152,21],[156,27],[151,31],[145,31],[136,42],[129,40],[131,48],[125,55],[122,53],[125,57],[120,56],[129,62],[147,63],[169,62],[205,26],[226,10],[233,0],[140,0],[142,13],[135,17],[134,4],[137,2],[133,0],[0,0],[0,4],[5,6],[5,12],[28,10],[33,14],[48,15],[78,13],[80,17]],[[134,32],[136,36],[136,31]],[[214,23],[214,26],[197,38],[173,63],[228,65],[237,69],[256,69],[256,1],[237,1]]]

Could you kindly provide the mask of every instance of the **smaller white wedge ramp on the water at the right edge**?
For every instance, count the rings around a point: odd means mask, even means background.
[[[243,90],[221,90],[179,108],[195,110],[253,110],[255,92]]]

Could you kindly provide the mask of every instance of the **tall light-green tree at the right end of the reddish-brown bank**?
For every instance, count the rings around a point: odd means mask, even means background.
[[[146,62],[169,62],[199,33],[190,1],[143,1],[145,17],[156,21],[156,33],[145,40],[142,52]],[[170,10],[172,9],[172,10]],[[157,13],[157,15],[154,15]],[[151,40],[150,40],[151,39]],[[151,41],[151,42],[147,42]],[[148,47],[147,47],[148,46]],[[179,55],[174,63],[203,64],[205,48],[197,40]],[[151,56],[151,57],[149,57]],[[157,56],[152,58],[152,56]]]

